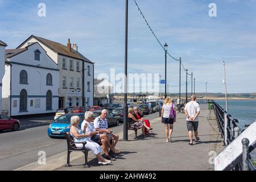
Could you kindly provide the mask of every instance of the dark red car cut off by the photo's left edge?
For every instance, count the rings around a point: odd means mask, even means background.
[[[17,131],[19,130],[19,128],[20,128],[19,120],[0,114],[0,130]]]

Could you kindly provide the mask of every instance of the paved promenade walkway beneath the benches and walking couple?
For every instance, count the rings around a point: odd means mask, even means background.
[[[64,167],[67,152],[47,159],[47,165],[39,166],[30,164],[18,170],[74,170],[74,171],[120,171],[120,170],[142,170],[142,171],[172,171],[172,170],[204,170],[212,168],[209,164],[209,151],[214,150],[218,153],[223,149],[220,133],[218,133],[216,120],[209,119],[209,110],[206,105],[201,105],[199,137],[201,142],[189,146],[185,114],[178,113],[177,121],[174,125],[172,135],[173,143],[166,142],[164,125],[160,118],[151,121],[154,128],[150,137],[140,138],[141,131],[138,133],[138,140],[134,139],[134,131],[129,131],[129,142],[119,141],[117,148],[122,152],[119,158],[109,166],[98,166],[97,159],[89,152],[88,161],[90,168],[83,168],[84,155],[82,152],[72,152],[72,167]],[[122,134],[119,133],[122,139]],[[194,142],[195,143],[195,142]],[[80,154],[81,153],[81,154]]]

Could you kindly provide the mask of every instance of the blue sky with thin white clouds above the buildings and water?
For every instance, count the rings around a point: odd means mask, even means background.
[[[38,16],[45,3],[46,16]],[[196,92],[223,93],[224,68],[228,93],[256,92],[256,1],[137,0],[145,18],[168,52],[183,61],[196,78]],[[216,3],[217,16],[209,16]],[[100,73],[125,68],[125,0],[8,1],[0,0],[0,40],[16,48],[29,36],[76,43]],[[158,73],[164,79],[164,51],[129,0],[128,72]],[[181,70],[181,92],[185,92]],[[188,81],[191,79],[188,76]],[[179,61],[167,57],[169,92],[179,92]],[[162,86],[162,91],[164,85]],[[191,81],[188,85],[191,92]]]

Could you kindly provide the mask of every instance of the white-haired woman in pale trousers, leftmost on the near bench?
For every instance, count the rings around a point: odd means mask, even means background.
[[[101,148],[100,145],[90,140],[90,134],[86,135],[82,132],[82,130],[79,128],[80,123],[80,117],[77,115],[74,115],[71,117],[71,129],[70,133],[73,138],[75,138],[75,142],[86,142],[85,147],[92,151],[94,155],[97,156],[98,164],[100,165],[106,165],[111,163],[110,160],[106,160],[101,156]],[[76,144],[77,148],[82,148],[81,143]]]

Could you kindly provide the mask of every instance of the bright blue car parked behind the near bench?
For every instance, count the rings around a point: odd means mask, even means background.
[[[71,117],[73,115],[78,115],[80,117],[79,127],[81,127],[82,121],[84,121],[84,113],[68,113],[63,114],[58,117],[54,122],[48,127],[48,136],[51,138],[59,137],[64,138],[64,133],[69,132],[71,128]]]

